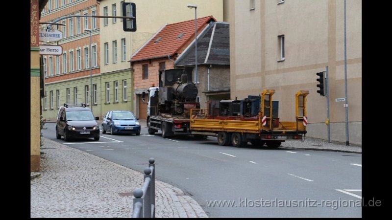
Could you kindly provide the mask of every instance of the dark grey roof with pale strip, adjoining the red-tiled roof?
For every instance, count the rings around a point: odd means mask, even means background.
[[[211,22],[197,38],[197,64],[230,65],[229,23]],[[178,56],[174,66],[195,66],[195,41]]]

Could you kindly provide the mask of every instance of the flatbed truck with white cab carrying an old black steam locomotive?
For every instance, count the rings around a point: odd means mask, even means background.
[[[200,108],[196,102],[197,88],[192,83],[192,68],[159,71],[159,87],[142,93],[147,101],[147,129],[149,134],[161,131],[162,137],[191,134],[191,109]],[[196,135],[197,136],[197,135]]]

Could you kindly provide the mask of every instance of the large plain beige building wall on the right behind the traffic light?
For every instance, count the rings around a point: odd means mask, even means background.
[[[329,69],[330,137],[346,141],[343,0],[224,0],[230,23],[231,98],[275,89],[281,120],[293,120],[294,94],[309,90],[307,136],[327,139],[327,97],[317,72]],[[346,1],[349,143],[362,144],[362,2]]]

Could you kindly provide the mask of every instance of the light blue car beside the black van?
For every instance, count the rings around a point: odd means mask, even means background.
[[[140,135],[140,123],[131,111],[110,110],[102,121],[102,133],[134,133]]]

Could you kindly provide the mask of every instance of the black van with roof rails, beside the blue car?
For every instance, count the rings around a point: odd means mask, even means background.
[[[72,138],[90,138],[99,140],[99,126],[93,112],[82,104],[78,107],[71,107],[67,104],[60,107],[57,113],[56,138],[64,136],[65,141]]]

